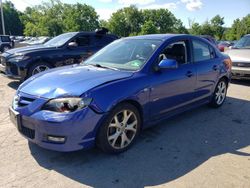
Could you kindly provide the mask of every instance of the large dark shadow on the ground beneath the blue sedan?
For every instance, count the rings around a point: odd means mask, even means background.
[[[238,110],[241,109],[241,110]],[[144,187],[175,180],[213,156],[250,145],[250,102],[228,98],[220,109],[206,106],[183,113],[142,132],[137,143],[120,155],[93,149],[71,153],[29,144],[44,168],[93,187]]]

